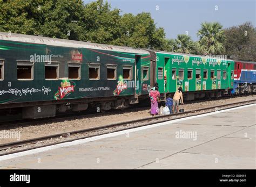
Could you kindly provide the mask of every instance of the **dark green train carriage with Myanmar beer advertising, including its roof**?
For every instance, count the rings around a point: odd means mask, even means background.
[[[147,97],[150,63],[142,49],[0,33],[1,114],[19,108],[24,118],[43,118],[128,107]]]

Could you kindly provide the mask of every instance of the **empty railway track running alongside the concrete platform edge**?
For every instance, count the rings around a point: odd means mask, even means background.
[[[132,121],[125,121],[122,123],[116,123],[111,125],[105,125],[95,128],[86,128],[79,131],[71,131],[67,133],[59,133],[54,135],[42,136],[39,138],[28,139],[23,141],[16,141],[11,143],[5,143],[0,145],[0,156],[8,155],[12,153],[23,152],[25,150],[31,150],[51,145],[57,145],[59,143],[75,141],[84,138],[90,138],[96,135],[102,135],[117,131],[128,130],[131,128],[152,125],[156,123],[163,123],[173,119],[181,119],[190,116],[197,116],[199,114],[210,113],[213,111],[219,111],[224,109],[232,109],[238,106],[250,105],[256,103],[256,99],[247,100],[239,103],[231,103],[225,105],[219,105],[214,107],[205,107],[202,109],[191,110],[181,113],[174,113],[165,116],[156,116],[150,118],[137,119]],[[39,143],[38,143],[39,142]]]

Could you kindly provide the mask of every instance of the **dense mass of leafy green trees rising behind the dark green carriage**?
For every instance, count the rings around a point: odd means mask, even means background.
[[[164,28],[150,13],[120,15],[97,0],[0,0],[0,31],[163,50]]]

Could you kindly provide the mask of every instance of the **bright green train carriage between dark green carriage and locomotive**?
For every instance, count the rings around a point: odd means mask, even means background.
[[[220,57],[156,53],[156,82],[160,93],[183,88],[185,100],[230,94],[234,82],[234,61]],[[166,83],[164,77],[166,76]]]

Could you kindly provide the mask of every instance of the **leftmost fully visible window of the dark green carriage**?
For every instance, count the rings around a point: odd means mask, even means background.
[[[17,79],[21,81],[33,80],[32,62],[17,62]]]

